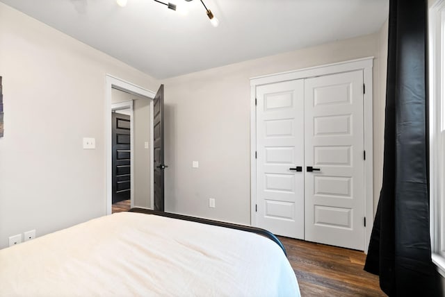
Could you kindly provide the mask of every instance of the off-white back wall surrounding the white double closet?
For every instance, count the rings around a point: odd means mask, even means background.
[[[165,209],[236,223],[250,223],[250,80],[374,56],[376,106],[380,84],[380,33],[300,49],[165,80]],[[381,119],[381,109],[374,112]],[[383,135],[375,129],[375,146]],[[193,169],[192,161],[200,168]],[[380,160],[380,158],[375,158]],[[381,171],[381,164],[374,164]],[[209,197],[216,208],[209,208]],[[378,199],[378,192],[375,193]]]

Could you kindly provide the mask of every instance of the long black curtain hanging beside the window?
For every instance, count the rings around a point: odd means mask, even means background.
[[[383,185],[364,266],[389,296],[442,296],[430,246],[427,2],[389,1]]]

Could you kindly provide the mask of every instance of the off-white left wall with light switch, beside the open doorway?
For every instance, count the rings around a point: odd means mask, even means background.
[[[105,75],[154,78],[0,3],[0,248],[106,213]],[[82,137],[96,149],[83,150]]]

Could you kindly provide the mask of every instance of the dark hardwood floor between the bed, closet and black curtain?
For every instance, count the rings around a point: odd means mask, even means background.
[[[378,277],[363,270],[363,252],[279,237],[297,275],[301,296],[386,296]]]

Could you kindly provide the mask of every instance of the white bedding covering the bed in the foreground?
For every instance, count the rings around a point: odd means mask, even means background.
[[[275,242],[121,212],[0,250],[0,296],[300,296]]]

